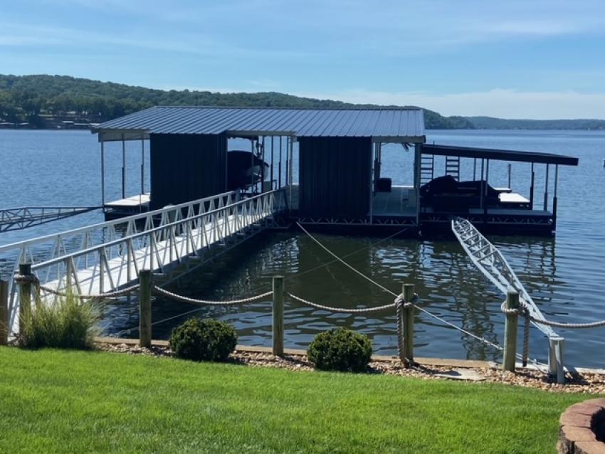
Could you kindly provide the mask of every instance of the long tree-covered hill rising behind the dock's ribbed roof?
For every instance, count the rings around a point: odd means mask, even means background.
[[[359,107],[275,92],[154,90],[66,75],[0,75],[0,121],[29,122],[38,127],[45,126],[50,117],[102,122],[152,105]],[[431,110],[424,111],[424,121],[427,129],[473,128],[464,117],[442,117]]]

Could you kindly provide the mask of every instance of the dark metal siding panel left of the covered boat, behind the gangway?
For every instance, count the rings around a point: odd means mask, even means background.
[[[149,144],[152,209],[225,191],[225,134],[150,134]]]

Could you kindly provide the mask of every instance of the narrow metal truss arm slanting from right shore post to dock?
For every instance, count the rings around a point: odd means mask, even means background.
[[[549,339],[549,371],[551,374],[557,374],[563,367],[563,349],[564,339],[545,324],[540,324],[539,320],[545,320],[544,315],[535,304],[530,294],[525,290],[515,272],[510,268],[506,259],[500,253],[500,250],[493,246],[485,236],[483,236],[473,223],[461,217],[454,217],[451,221],[451,228],[458,238],[465,253],[475,267],[495,285],[500,292],[506,295],[512,287],[519,293],[519,297],[525,302],[527,309],[533,320],[532,324],[540,329]]]

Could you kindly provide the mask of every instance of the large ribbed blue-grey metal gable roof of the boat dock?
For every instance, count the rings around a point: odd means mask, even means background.
[[[100,141],[140,139],[148,134],[293,135],[374,137],[384,142],[423,143],[418,107],[298,109],[277,107],[150,107],[93,128]]]

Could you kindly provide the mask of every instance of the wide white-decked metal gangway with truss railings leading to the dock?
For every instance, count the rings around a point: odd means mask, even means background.
[[[0,247],[0,274],[9,280],[9,322],[18,329],[20,263],[31,263],[41,285],[99,295],[134,285],[139,270],[162,285],[203,265],[269,226],[278,226],[285,190],[240,199],[235,191],[127,218]],[[48,295],[52,297],[52,295]]]

